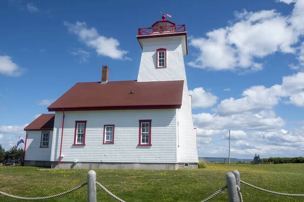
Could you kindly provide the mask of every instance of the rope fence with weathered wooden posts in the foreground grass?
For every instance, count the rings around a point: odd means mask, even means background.
[[[219,193],[221,193],[225,189],[227,189],[227,192],[228,192],[228,201],[229,202],[243,202],[243,196],[242,196],[242,192],[241,192],[240,183],[245,184],[249,187],[255,188],[257,190],[272,193],[272,194],[283,195],[283,196],[304,197],[304,194],[280,193],[280,192],[270,191],[270,190],[267,190],[267,189],[263,189],[263,188],[254,186],[252,184],[249,184],[247,182],[244,182],[244,181],[240,180],[240,173],[238,171],[234,171],[233,173],[227,173],[226,174],[226,184],[227,185],[223,186],[222,188],[217,190],[215,193],[213,193],[209,197],[205,198],[204,200],[201,200],[200,202],[206,202],[208,200],[211,200],[213,197],[217,196]],[[97,182],[96,181],[96,173],[93,170],[89,171],[87,182],[85,182],[82,185],[79,185],[75,188],[72,188],[68,191],[58,193],[58,194],[55,194],[55,195],[44,196],[44,197],[22,197],[22,196],[11,195],[11,194],[5,193],[3,191],[0,191],[0,194],[4,195],[4,196],[7,196],[7,197],[20,199],[20,200],[44,200],[44,199],[50,199],[50,198],[55,198],[55,197],[58,197],[58,196],[62,196],[62,195],[65,195],[67,193],[71,193],[71,192],[73,192],[77,189],[80,189],[81,187],[83,187],[85,185],[88,185],[87,186],[88,187],[88,202],[96,202],[97,201],[96,185],[101,187],[107,194],[109,194],[111,197],[113,197],[117,201],[126,202],[125,200],[123,200],[123,199],[119,198],[118,196],[116,196],[115,194],[111,193],[102,184]]]

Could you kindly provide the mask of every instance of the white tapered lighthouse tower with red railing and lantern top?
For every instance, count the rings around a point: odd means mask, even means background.
[[[185,25],[166,20],[138,29],[142,48],[138,82],[184,80],[182,105],[176,110],[176,149],[178,167],[196,167],[198,150],[193,126],[191,96],[188,93],[183,57],[188,54]]]

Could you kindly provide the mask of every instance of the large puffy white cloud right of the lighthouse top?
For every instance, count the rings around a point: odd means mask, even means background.
[[[297,43],[304,34],[304,0],[282,2],[295,3],[292,14],[284,16],[276,10],[235,12],[229,26],[210,31],[205,37],[192,37],[189,44],[199,53],[188,64],[210,70],[252,72],[263,68],[256,62],[258,59],[276,52],[297,54]]]

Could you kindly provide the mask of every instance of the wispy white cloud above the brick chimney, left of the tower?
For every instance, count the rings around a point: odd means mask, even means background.
[[[89,47],[95,48],[98,55],[118,60],[131,60],[126,57],[128,51],[119,48],[120,43],[116,38],[99,35],[94,27],[88,29],[85,22],[77,21],[72,24],[64,21],[63,24],[67,26],[70,33],[77,35],[80,41]]]

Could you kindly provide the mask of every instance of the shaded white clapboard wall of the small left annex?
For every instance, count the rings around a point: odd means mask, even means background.
[[[50,161],[51,143],[53,141],[53,131],[50,132],[49,147],[40,147],[42,131],[27,131],[25,161]]]

